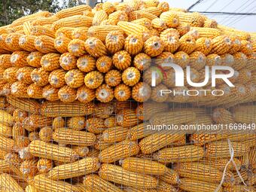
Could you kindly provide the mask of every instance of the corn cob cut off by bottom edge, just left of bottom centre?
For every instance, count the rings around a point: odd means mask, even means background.
[[[121,192],[117,186],[111,184],[111,182],[106,181],[103,178],[100,178],[99,175],[90,174],[84,178],[83,184],[86,187],[86,191],[95,191],[100,192],[102,190],[109,191],[109,192]]]

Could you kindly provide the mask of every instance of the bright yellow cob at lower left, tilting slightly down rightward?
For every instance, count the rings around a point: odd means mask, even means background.
[[[78,159],[78,154],[71,148],[60,147],[59,145],[46,143],[40,140],[32,141],[29,144],[29,152],[35,157],[58,160],[60,162],[73,162]]]

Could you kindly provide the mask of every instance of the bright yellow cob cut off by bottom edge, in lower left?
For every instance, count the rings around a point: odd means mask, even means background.
[[[65,181],[53,181],[50,178],[47,178],[46,175],[35,175],[32,185],[38,191],[45,191],[45,192],[66,192],[66,191],[73,191],[73,192],[81,192],[75,185],[69,184]]]

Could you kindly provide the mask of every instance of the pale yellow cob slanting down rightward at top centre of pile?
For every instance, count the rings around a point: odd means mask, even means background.
[[[151,36],[151,32],[147,27],[139,25],[137,23],[119,21],[117,23],[117,26],[120,26],[120,29],[122,29],[126,35],[142,35],[143,40],[147,40]]]

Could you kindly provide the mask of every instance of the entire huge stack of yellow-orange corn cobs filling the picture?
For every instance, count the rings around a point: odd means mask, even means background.
[[[221,183],[218,191],[254,191],[254,134],[145,127],[254,123],[254,106],[228,108],[256,99],[255,40],[153,0],[42,11],[0,27],[0,190],[209,192]],[[217,81],[227,92],[221,99],[160,96],[175,87],[163,62],[190,65],[194,82],[203,81],[205,66],[231,66],[236,86]],[[151,72],[158,74],[154,88]],[[211,115],[151,103],[145,114],[147,100],[218,108]],[[236,166],[227,166],[222,181],[227,139]]]

